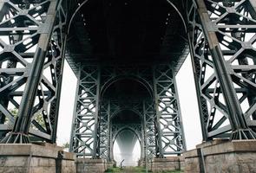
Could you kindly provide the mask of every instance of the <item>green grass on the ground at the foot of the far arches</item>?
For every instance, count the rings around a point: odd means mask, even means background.
[[[146,169],[142,167],[126,167],[123,168],[122,170],[120,168],[110,168],[106,170],[105,172],[131,172],[131,173],[145,173]],[[151,172],[151,171],[148,171]],[[182,173],[183,171],[181,170],[169,170],[169,171],[162,171],[162,173]]]

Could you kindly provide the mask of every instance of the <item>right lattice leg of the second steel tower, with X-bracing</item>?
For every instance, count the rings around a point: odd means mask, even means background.
[[[156,155],[181,154],[186,151],[186,143],[173,67],[154,67],[154,99],[157,115],[154,122],[160,129],[156,133],[156,138],[159,138],[156,140],[159,141]]]

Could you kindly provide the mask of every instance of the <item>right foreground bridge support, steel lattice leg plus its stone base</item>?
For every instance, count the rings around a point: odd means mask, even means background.
[[[187,2],[203,139],[233,141],[207,142],[185,152],[185,170],[255,171],[255,3]]]

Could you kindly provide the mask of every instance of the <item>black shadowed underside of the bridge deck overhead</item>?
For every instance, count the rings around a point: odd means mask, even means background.
[[[183,3],[166,0],[77,3],[66,59],[77,64],[172,63],[177,73],[189,53]]]

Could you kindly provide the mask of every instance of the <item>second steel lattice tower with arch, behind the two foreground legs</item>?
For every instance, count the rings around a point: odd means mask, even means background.
[[[136,133],[141,134],[143,158],[181,154],[186,146],[173,73],[170,66],[156,66],[154,70],[152,67],[82,67],[77,85],[71,150],[78,157],[112,160],[113,134],[119,129],[112,128],[111,119],[122,110],[132,110],[141,115],[141,128]],[[108,86],[127,78],[141,82],[154,98],[136,101],[132,98],[104,98]],[[126,97],[120,95],[120,98]],[[99,100],[102,100],[101,104]],[[161,144],[164,144],[163,151]]]

